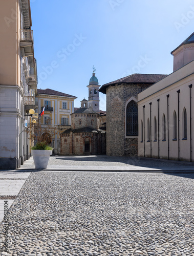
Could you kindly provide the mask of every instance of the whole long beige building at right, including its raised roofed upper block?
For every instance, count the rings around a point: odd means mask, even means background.
[[[194,161],[193,47],[194,33],[172,52],[174,72],[138,94],[139,156]]]

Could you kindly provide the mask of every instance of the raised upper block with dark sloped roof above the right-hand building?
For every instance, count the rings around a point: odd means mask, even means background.
[[[171,54],[174,56],[174,72],[194,60],[194,32]]]

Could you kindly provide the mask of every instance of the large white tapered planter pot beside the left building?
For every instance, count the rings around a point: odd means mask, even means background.
[[[52,150],[32,150],[32,156],[36,169],[46,169]]]

